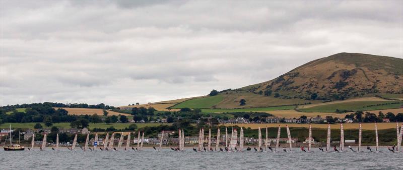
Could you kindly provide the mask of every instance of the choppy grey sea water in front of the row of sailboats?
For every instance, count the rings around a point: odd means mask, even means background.
[[[366,148],[364,148],[366,149]],[[253,150],[253,149],[252,149]],[[0,169],[403,169],[403,153],[381,152],[0,151]]]

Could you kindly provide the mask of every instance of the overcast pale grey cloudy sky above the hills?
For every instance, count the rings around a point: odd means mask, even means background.
[[[403,1],[0,1],[0,105],[123,106],[403,58]]]

